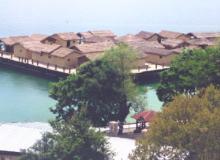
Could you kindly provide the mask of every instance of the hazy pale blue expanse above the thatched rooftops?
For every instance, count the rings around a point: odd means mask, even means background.
[[[219,11],[219,0],[1,0],[0,31],[217,31]]]

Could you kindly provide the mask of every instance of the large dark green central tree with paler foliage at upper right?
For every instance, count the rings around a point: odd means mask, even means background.
[[[130,108],[139,106],[130,75],[133,54],[120,44],[103,58],[82,65],[76,75],[53,84],[50,95],[57,100],[53,113],[58,119],[68,119],[83,107],[94,126],[105,126],[109,121],[123,123]]]

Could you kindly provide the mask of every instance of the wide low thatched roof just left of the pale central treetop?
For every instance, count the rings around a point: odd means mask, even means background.
[[[82,52],[83,54],[87,53],[97,53],[104,52],[107,49],[110,49],[115,44],[112,42],[100,42],[100,43],[88,43],[88,44],[78,44],[72,48]]]

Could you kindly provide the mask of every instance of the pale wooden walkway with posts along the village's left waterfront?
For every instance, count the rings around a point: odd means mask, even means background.
[[[15,62],[29,64],[29,65],[33,65],[36,67],[48,69],[51,71],[60,72],[60,73],[65,73],[65,74],[73,74],[73,73],[75,74],[76,73],[76,68],[66,69],[66,68],[61,68],[61,67],[55,66],[55,65],[47,65],[47,64],[40,63],[40,62],[32,61],[30,59],[25,60],[25,59],[15,57],[11,53],[7,53],[7,52],[0,51],[0,57],[4,58],[4,59],[9,59],[9,60],[12,60]]]

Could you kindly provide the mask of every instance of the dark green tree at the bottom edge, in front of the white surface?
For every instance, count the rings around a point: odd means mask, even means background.
[[[104,135],[92,129],[82,113],[51,125],[53,132],[46,133],[21,160],[108,160],[113,156]]]

